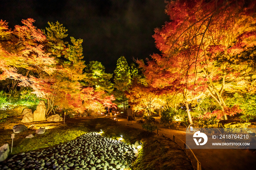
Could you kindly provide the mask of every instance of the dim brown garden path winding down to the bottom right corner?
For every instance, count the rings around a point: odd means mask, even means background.
[[[127,124],[127,118],[117,117],[118,124],[142,129],[142,124],[133,121],[133,124]],[[131,123],[131,121],[129,122]],[[159,135],[173,139],[173,135],[186,141],[185,131],[172,130],[167,127],[159,127]],[[157,130],[154,131],[157,134]],[[184,143],[176,138],[176,142],[183,148]],[[196,160],[192,153],[188,151],[192,165],[196,168]],[[252,170],[256,167],[256,154],[245,149],[192,149],[196,158],[201,163],[202,170]]]

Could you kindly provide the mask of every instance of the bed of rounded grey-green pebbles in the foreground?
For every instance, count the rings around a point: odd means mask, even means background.
[[[89,132],[65,144],[14,155],[0,163],[0,170],[124,170],[135,159],[134,146]]]

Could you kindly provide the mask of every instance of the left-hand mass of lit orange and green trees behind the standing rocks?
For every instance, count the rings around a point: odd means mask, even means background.
[[[46,31],[33,26],[34,22],[22,20],[23,26],[12,31],[0,21],[0,80],[7,81],[7,88],[19,85],[33,89],[32,93],[47,101],[47,113],[54,112],[55,105],[79,113],[114,106],[109,82],[112,75],[104,73],[99,62],[90,62],[85,72],[83,40],[71,37],[71,44],[64,42],[67,30],[59,22],[48,22]],[[98,83],[91,85],[95,76]]]

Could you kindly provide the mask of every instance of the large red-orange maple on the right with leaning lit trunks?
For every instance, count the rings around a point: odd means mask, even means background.
[[[166,7],[170,22],[155,29],[153,36],[162,54],[151,55],[147,66],[138,61],[151,84],[158,88],[175,85],[187,112],[188,100],[207,89],[227,119],[230,109],[222,92],[245,75],[244,66],[254,63],[252,55],[243,55],[255,48],[254,7],[253,1],[170,1]]]

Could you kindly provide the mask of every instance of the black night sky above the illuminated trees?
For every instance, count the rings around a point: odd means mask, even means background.
[[[150,58],[159,53],[154,29],[169,18],[165,0],[0,0],[0,19],[10,28],[22,19],[35,19],[37,28],[59,21],[68,29],[68,37],[83,39],[86,64],[99,61],[107,73],[113,73],[117,59],[124,56]],[[68,39],[69,41],[70,39]]]

